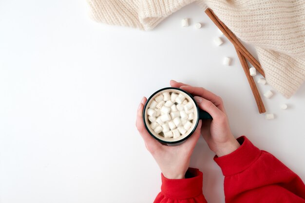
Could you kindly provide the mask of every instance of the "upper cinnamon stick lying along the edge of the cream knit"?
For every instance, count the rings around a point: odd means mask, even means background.
[[[261,64],[248,52],[244,45],[237,39],[237,37],[229,30],[229,28],[214,14],[214,12],[207,8],[205,13],[210,17],[214,24],[223,32],[223,34],[230,40],[230,42],[237,48],[242,55],[253,65],[256,70],[265,77],[265,73]]]

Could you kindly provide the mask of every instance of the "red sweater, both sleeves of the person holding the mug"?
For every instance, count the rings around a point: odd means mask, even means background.
[[[225,176],[226,203],[305,203],[305,185],[297,174],[245,136],[237,140],[240,148],[214,157]],[[161,192],[154,203],[207,203],[198,169],[189,168],[186,179],[161,177]]]

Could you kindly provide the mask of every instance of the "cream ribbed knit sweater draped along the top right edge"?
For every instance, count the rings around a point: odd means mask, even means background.
[[[151,30],[196,0],[87,0],[98,22]],[[254,45],[267,83],[289,98],[305,80],[305,0],[197,0]]]

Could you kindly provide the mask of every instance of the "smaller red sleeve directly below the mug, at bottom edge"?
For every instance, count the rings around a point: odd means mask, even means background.
[[[161,174],[161,192],[154,203],[207,203],[202,194],[202,172],[189,168],[185,179],[167,179]]]

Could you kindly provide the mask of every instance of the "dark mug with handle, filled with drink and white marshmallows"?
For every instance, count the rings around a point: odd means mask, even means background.
[[[163,121],[160,121],[160,116],[162,116],[162,115],[156,115],[155,117],[152,117],[152,116],[149,116],[148,115],[148,109],[153,109],[154,111],[152,111],[152,110],[150,110],[150,112],[152,113],[152,112],[160,112],[160,110],[159,109],[161,109],[161,106],[162,106],[162,108],[164,108],[163,106],[164,106],[164,104],[165,104],[165,102],[166,101],[164,101],[164,100],[162,100],[162,101],[159,101],[159,102],[157,102],[155,99],[156,99],[156,97],[158,97],[158,100],[160,99],[160,95],[167,95],[167,97],[168,97],[168,94],[167,93],[165,93],[165,92],[168,92],[169,94],[170,94],[170,96],[171,96],[171,99],[169,100],[169,101],[172,101],[172,103],[171,102],[169,102],[169,104],[171,105],[179,105],[179,103],[181,103],[182,101],[179,101],[179,99],[177,100],[177,99],[175,99],[175,100],[172,100],[173,98],[172,98],[172,96],[176,96],[177,94],[179,95],[178,97],[180,97],[180,100],[181,100],[181,98],[183,99],[184,97],[185,97],[185,99],[184,100],[186,100],[186,101],[184,101],[183,103],[184,103],[184,105],[182,105],[182,104],[180,104],[180,107],[182,107],[182,106],[184,106],[184,108],[186,108],[185,106],[188,106],[189,108],[191,107],[191,109],[193,109],[193,110],[188,110],[188,109],[185,109],[185,110],[181,110],[181,111],[184,111],[184,112],[181,112],[180,110],[178,111],[179,112],[179,114],[180,115],[187,115],[188,116],[188,118],[187,118],[187,121],[186,120],[183,120],[183,119],[181,119],[181,116],[179,117],[179,119],[177,119],[176,118],[176,120],[173,120],[172,118],[171,118],[171,120],[170,121],[165,121],[165,120],[163,120]],[[165,94],[164,94],[165,93]],[[174,95],[172,95],[174,93]],[[161,96],[162,97],[162,96]],[[164,96],[163,96],[163,98],[164,98]],[[177,97],[176,97],[177,98]],[[168,100],[168,98],[167,99],[165,99],[165,100]],[[178,101],[178,103],[177,103],[177,101]],[[156,107],[154,107],[154,108],[151,108],[152,106],[154,106],[156,103],[161,103],[161,104],[159,104],[159,106],[157,106],[157,108]],[[187,103],[189,103],[189,104],[187,104]],[[162,105],[163,104],[163,105]],[[192,106],[191,106],[192,105]],[[177,106],[176,106],[177,107]],[[176,107],[174,107],[173,109],[175,109]],[[159,109],[158,109],[159,108]],[[164,108],[164,109],[162,109],[163,110],[163,112],[164,111],[168,111],[169,109],[171,109],[172,110],[172,106],[171,107],[169,107],[169,106],[167,106],[166,108]],[[186,114],[186,112],[187,111],[192,111],[190,114]],[[176,111],[177,112],[177,111]],[[166,112],[166,113],[168,113],[168,112]],[[164,113],[164,114],[166,114],[166,113]],[[171,114],[172,114],[172,112],[171,112]],[[191,115],[192,114],[192,115]],[[173,115],[173,114],[172,114]],[[175,115],[177,115],[176,113],[175,113]],[[170,118],[171,116],[170,116],[170,114],[167,114],[167,115],[165,115],[165,119],[167,120],[167,116]],[[150,117],[150,118],[149,118]],[[173,117],[173,116],[172,116]],[[178,116],[177,116],[178,117]],[[164,118],[164,117],[163,117]],[[159,119],[159,120],[157,120],[157,122],[158,122],[158,124],[156,124],[156,122],[154,121],[155,119]],[[185,119],[185,118],[184,118]],[[198,107],[198,105],[197,105],[197,103],[195,102],[195,100],[194,100],[194,98],[193,98],[193,96],[190,94],[190,93],[188,93],[188,92],[186,92],[186,91],[184,91],[184,90],[182,90],[182,89],[180,89],[180,88],[173,88],[173,87],[168,87],[168,88],[163,88],[163,89],[160,89],[160,90],[158,90],[158,91],[156,91],[156,92],[154,92],[149,98],[148,98],[148,100],[147,100],[147,102],[146,102],[146,104],[145,104],[145,106],[144,106],[144,110],[143,110],[143,121],[144,121],[144,126],[145,126],[145,128],[147,129],[147,131],[152,135],[152,137],[154,138],[154,139],[156,139],[156,140],[158,140],[159,142],[162,142],[162,143],[167,143],[167,144],[175,144],[175,143],[180,143],[180,142],[182,142],[182,141],[184,141],[184,140],[186,140],[187,138],[189,138],[190,136],[191,136],[191,134],[195,131],[195,129],[197,128],[197,125],[198,125],[198,122],[199,122],[199,119],[212,119],[212,117],[211,117],[211,115],[207,112],[207,111],[203,111],[203,110],[201,110],[199,107]],[[152,120],[152,121],[151,121]],[[180,121],[182,121],[182,122],[185,122],[185,124],[183,125],[182,123],[179,123],[179,120]],[[171,122],[172,121],[172,125],[169,123],[169,122]],[[188,122],[189,121],[189,122]],[[176,122],[175,124],[177,124],[177,125],[173,125],[173,122]],[[186,124],[186,123],[188,123],[188,124]],[[167,130],[165,130],[165,128],[168,128],[167,126],[170,124],[170,128],[171,128],[171,132],[170,131],[168,131],[168,129]],[[155,127],[155,126],[159,126],[158,128],[158,130],[157,131],[155,131],[156,130],[156,128],[154,129],[154,128],[152,128],[152,125]],[[164,131],[168,131],[168,132],[163,132],[163,131],[161,131],[161,132],[159,132],[159,130],[162,128],[161,126],[162,125],[165,125],[165,126],[163,126],[164,128],[162,129],[162,130],[164,130]],[[186,125],[188,125],[188,126],[186,126]],[[182,128],[182,127],[183,128]],[[191,127],[190,127],[191,126]],[[160,128],[161,127],[161,128]],[[184,127],[186,127],[186,128],[189,128],[189,129],[185,129]],[[180,136],[178,136],[178,131],[179,131],[179,133],[180,133]],[[159,133],[156,133],[156,132],[159,132]],[[185,133],[183,133],[183,132],[185,132]],[[176,135],[176,136],[173,136],[173,137],[169,137],[168,136],[168,134],[170,134],[169,136],[171,136],[171,134],[174,134],[174,135]],[[166,136],[167,135],[167,136]]]

